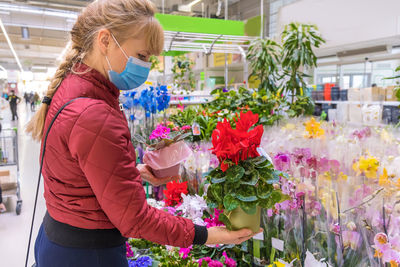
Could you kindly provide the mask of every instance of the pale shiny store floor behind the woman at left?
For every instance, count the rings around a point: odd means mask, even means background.
[[[29,229],[32,218],[33,202],[35,198],[36,183],[39,172],[39,148],[40,144],[34,142],[24,132],[26,123],[33,113],[24,102],[18,105],[19,120],[11,121],[10,109],[0,110],[1,124],[3,129],[18,127],[19,166],[22,196],[22,212],[19,216],[15,213],[16,197],[5,200],[7,212],[0,214],[0,266],[1,267],[23,267],[29,237]],[[33,234],[34,243],[38,228],[45,212],[43,199],[43,184],[39,192],[38,210],[36,214],[35,230]],[[28,266],[33,264],[33,244]]]

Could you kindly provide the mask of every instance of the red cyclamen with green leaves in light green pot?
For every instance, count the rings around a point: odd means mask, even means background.
[[[264,130],[262,125],[251,129],[257,122],[258,114],[242,112],[234,122],[219,122],[212,134],[212,153],[220,165],[207,177],[207,203],[224,210],[219,220],[230,230],[258,232],[261,209],[284,200],[278,185],[282,173],[259,154]]]

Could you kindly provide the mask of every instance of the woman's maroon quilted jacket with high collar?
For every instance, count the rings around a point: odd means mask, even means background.
[[[118,89],[81,64],[68,74],[51,102],[45,130],[58,109],[43,166],[44,196],[55,220],[84,229],[117,228],[125,237],[188,247],[190,220],[147,205]],[[88,71],[88,72],[87,72]]]

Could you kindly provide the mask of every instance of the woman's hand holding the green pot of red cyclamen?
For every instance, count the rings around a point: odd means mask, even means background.
[[[258,233],[263,230],[260,228]],[[238,231],[229,231],[225,227],[211,227],[208,228],[208,238],[206,245],[226,244],[238,245],[246,240],[249,240],[258,233],[253,233],[250,229],[241,229]]]

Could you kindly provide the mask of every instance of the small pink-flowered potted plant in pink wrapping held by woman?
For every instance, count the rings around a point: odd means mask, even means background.
[[[192,153],[184,139],[191,135],[185,130],[173,131],[161,124],[151,133],[149,141],[141,135],[134,135],[137,142],[144,144],[146,153],[143,162],[158,178],[179,175],[180,164]]]

